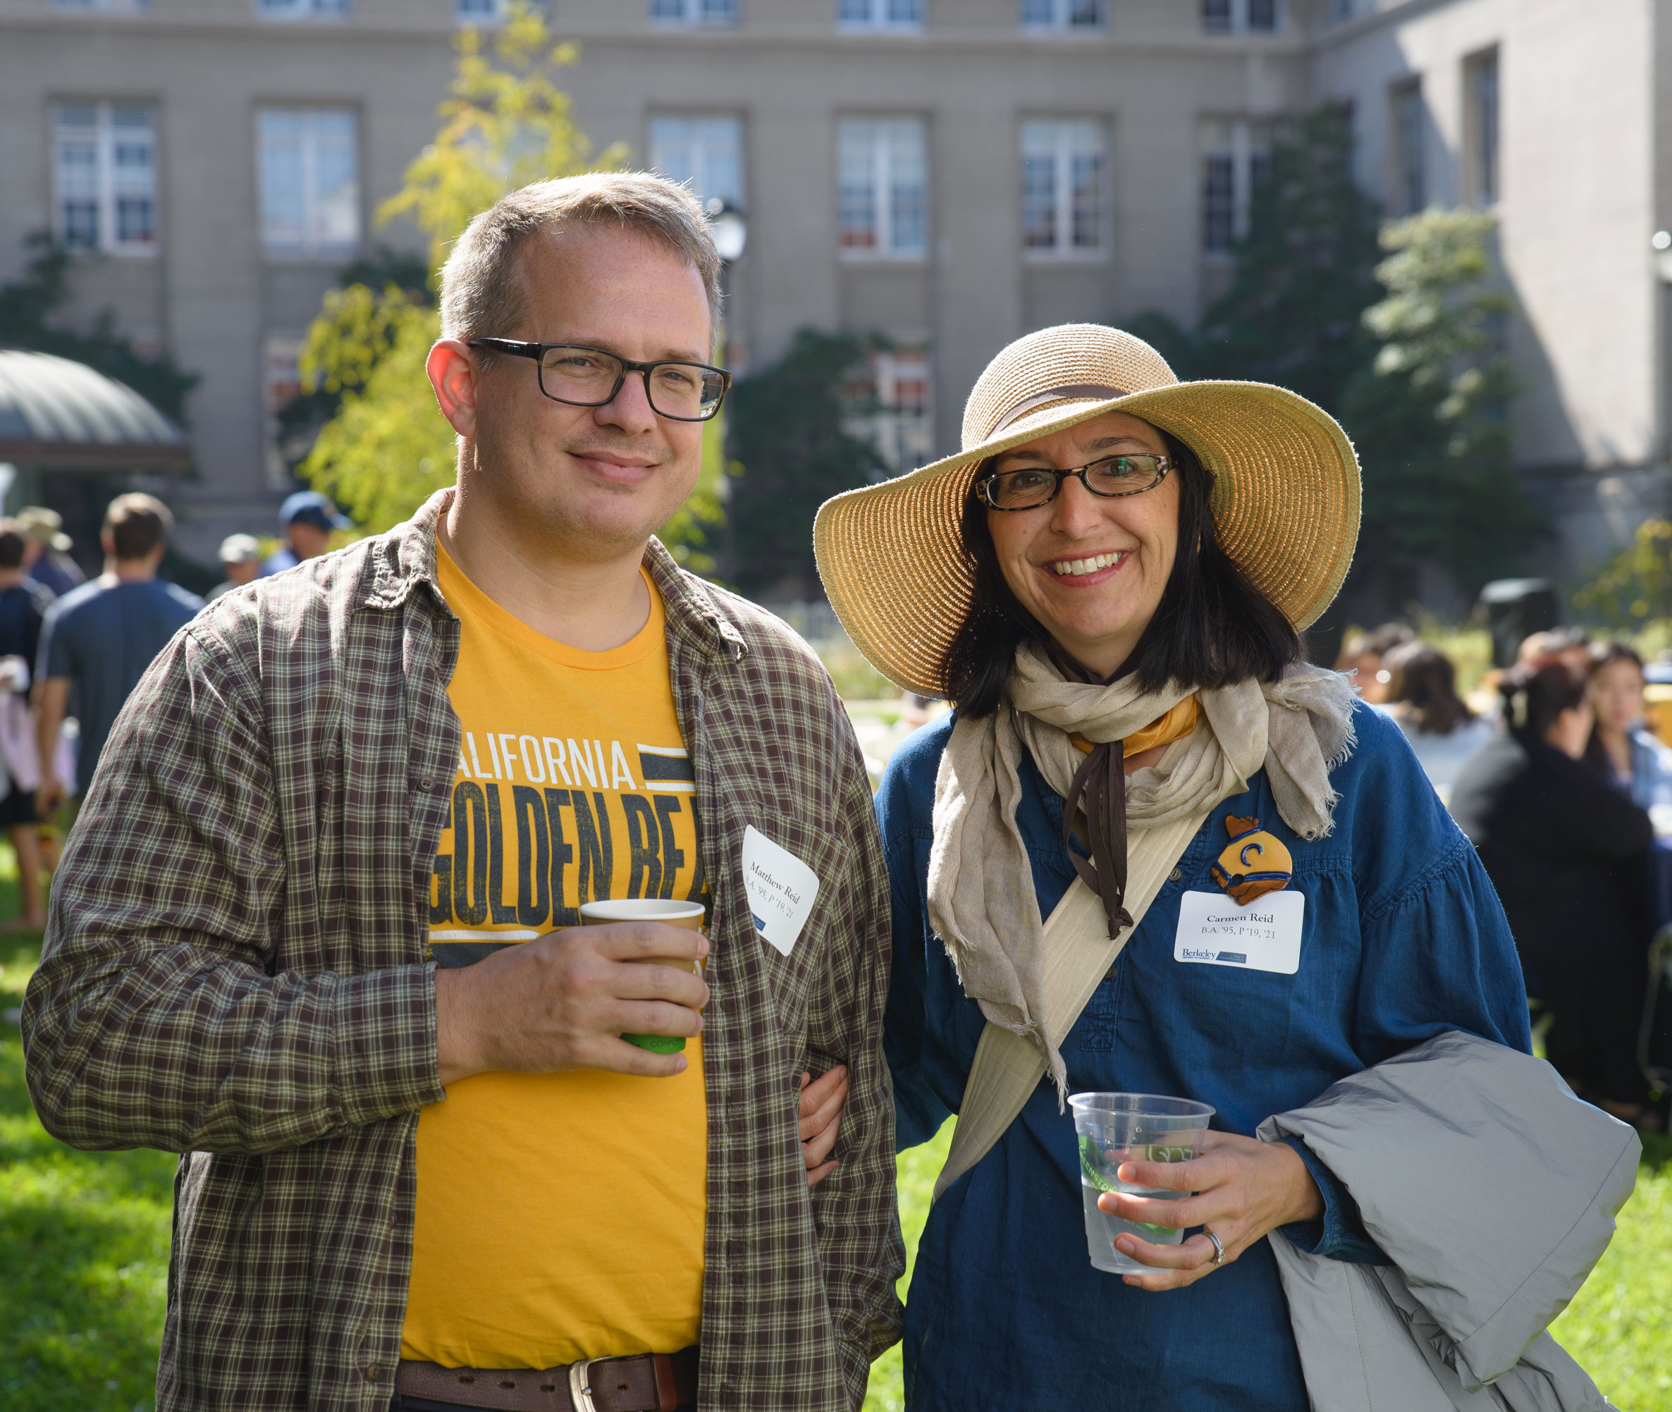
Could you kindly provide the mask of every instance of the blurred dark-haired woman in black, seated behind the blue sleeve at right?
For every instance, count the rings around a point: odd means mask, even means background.
[[[1465,766],[1451,813],[1503,898],[1528,989],[1553,1014],[1550,1062],[1582,1097],[1640,1123],[1649,815],[1583,763],[1597,716],[1582,671],[1518,663],[1500,693],[1508,731]]]

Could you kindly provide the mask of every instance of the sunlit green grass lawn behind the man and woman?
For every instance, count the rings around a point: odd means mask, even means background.
[[[0,873],[0,917],[17,910]],[[0,1007],[22,1002],[33,944],[0,942]],[[951,1126],[900,1159],[906,1278]],[[1617,1407],[1672,1412],[1672,1141],[1652,1143],[1620,1230],[1555,1337]],[[0,1407],[149,1412],[169,1268],[174,1158],[77,1153],[47,1136],[23,1089],[17,1026],[0,1024]],[[1160,1295],[1159,1298],[1165,1298]],[[866,1412],[905,1407],[900,1350]]]

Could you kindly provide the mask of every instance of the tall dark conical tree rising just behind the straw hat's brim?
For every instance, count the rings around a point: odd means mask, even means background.
[[[1346,383],[1374,356],[1361,323],[1379,289],[1376,204],[1353,181],[1353,127],[1336,104],[1284,127],[1256,184],[1231,284],[1185,330],[1165,315],[1129,326],[1180,378],[1277,383],[1339,412]]]

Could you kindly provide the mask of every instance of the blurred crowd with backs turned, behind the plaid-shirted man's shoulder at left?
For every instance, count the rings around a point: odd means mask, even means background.
[[[279,545],[251,534],[221,544],[214,601],[329,547],[348,527],[318,490],[279,507]],[[18,915],[0,930],[47,923],[42,883],[75,821],[110,726],[152,657],[206,599],[159,577],[174,517],[157,497],[119,495],[100,529],[104,569],[89,579],[64,520],[43,505],[0,517],[0,830],[17,853]]]

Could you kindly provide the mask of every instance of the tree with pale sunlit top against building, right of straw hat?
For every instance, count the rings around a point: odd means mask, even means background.
[[[1386,296],[1364,311],[1379,350],[1343,400],[1364,467],[1359,559],[1430,560],[1468,592],[1513,574],[1547,532],[1510,462],[1513,301],[1496,288],[1493,226],[1436,209],[1383,229]]]

